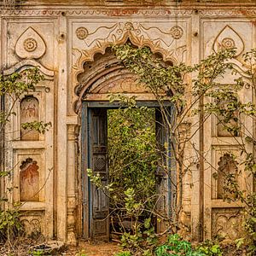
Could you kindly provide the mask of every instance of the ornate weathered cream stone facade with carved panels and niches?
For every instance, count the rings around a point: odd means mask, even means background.
[[[111,44],[124,44],[129,39],[138,47],[148,46],[162,55],[164,61],[174,64],[195,64],[213,51],[235,46],[234,64],[241,75],[247,76],[241,56],[256,45],[255,3],[163,1],[164,4],[158,6],[154,1],[130,2],[29,1],[16,9],[0,10],[0,55],[4,74],[39,67],[45,77],[36,91],[17,104],[16,111],[20,114],[11,119],[12,132],[7,137],[7,141],[15,138],[7,143],[5,166],[14,169],[7,184],[19,188],[14,192],[14,201],[26,201],[21,210],[27,230],[36,229],[49,238],[55,236],[69,243],[75,243],[82,233],[81,209],[86,202],[82,200],[84,187],[80,178],[83,158],[80,154],[83,141],[80,107],[84,93],[89,92],[93,101],[106,101],[104,93],[122,91],[122,86],[123,91],[137,93],[129,87],[134,83],[129,73],[123,73],[123,84],[116,80],[112,87],[106,84],[91,90],[86,87],[84,73],[96,61],[105,63],[100,55],[106,53],[107,62],[111,61],[106,51]],[[101,66],[96,67],[98,73],[105,72]],[[91,78],[96,74],[92,72]],[[225,77],[223,82],[228,80]],[[147,100],[147,92],[143,93]],[[241,95],[245,102],[253,102],[250,86]],[[52,127],[44,135],[30,137],[21,131],[20,137],[20,122],[31,118],[51,122]],[[189,122],[196,124],[198,118]],[[247,122],[253,129],[251,121]],[[218,181],[212,178],[223,155],[230,151],[236,154],[236,140],[223,134],[219,136],[214,119],[208,120],[204,129],[207,132],[197,132],[193,138],[197,148],[203,140],[203,150],[208,153],[203,180],[195,165],[184,181],[194,183],[193,187],[185,185],[183,195],[184,216],[194,239],[199,239],[201,232],[204,238],[224,234],[227,226],[232,229],[232,225],[240,221],[237,212],[241,206],[224,203],[218,196]],[[30,199],[30,193],[24,193],[26,183],[33,183],[34,190],[39,188],[36,197]],[[236,230],[230,230],[230,239],[236,238],[235,233]]]

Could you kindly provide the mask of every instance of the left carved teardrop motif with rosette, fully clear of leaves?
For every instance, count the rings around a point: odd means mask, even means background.
[[[45,50],[44,39],[31,26],[20,35],[15,44],[15,52],[21,59],[38,59],[44,55]]]

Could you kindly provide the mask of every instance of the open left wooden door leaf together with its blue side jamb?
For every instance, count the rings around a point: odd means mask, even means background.
[[[108,184],[108,124],[106,108],[86,108],[87,129],[84,142],[84,166],[101,177],[102,187]],[[86,171],[86,170],[85,170]],[[99,189],[84,174],[84,238],[96,241],[108,241],[108,191]]]

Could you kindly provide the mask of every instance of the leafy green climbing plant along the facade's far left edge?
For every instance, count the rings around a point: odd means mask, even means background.
[[[11,131],[7,131],[10,120],[15,113],[15,106],[22,96],[36,89],[36,85],[44,79],[38,68],[30,68],[22,73],[12,73],[10,75],[0,75],[0,241],[11,241],[21,230],[20,224],[20,203],[9,200],[12,197],[15,187],[6,187],[4,181],[12,177],[13,169],[8,170],[4,166],[4,151],[7,149],[6,143],[10,143],[13,137]],[[42,121],[32,121],[21,124],[27,132],[38,131],[44,133],[50,127],[50,123]],[[6,137],[6,134],[9,136]],[[14,137],[13,140],[19,139]]]

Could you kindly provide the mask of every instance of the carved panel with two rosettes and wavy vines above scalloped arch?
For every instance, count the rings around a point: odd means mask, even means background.
[[[104,23],[73,23],[73,70],[83,72],[84,61],[93,61],[96,53],[104,53],[111,44],[148,46],[159,52],[164,61],[186,61],[187,24],[153,21],[106,21]]]

